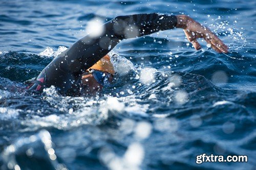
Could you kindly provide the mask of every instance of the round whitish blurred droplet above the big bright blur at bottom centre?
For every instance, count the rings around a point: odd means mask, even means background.
[[[139,139],[145,139],[150,136],[152,125],[147,122],[139,122],[135,128],[135,136]]]

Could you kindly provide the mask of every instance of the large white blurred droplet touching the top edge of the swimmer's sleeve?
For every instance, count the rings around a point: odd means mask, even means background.
[[[104,32],[103,21],[100,18],[93,18],[87,22],[86,33],[90,38],[98,38]]]

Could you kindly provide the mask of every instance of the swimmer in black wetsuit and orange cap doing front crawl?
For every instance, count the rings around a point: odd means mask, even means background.
[[[89,34],[57,56],[27,89],[41,92],[53,85],[65,94],[95,94],[113,80],[115,71],[107,54],[121,40],[174,28],[183,29],[196,50],[201,48],[197,39],[203,38],[217,52],[228,53],[228,46],[214,33],[186,15],[150,13],[117,16],[104,23],[103,28],[99,36]]]

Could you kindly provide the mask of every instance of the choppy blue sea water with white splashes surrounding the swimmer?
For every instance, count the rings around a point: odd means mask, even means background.
[[[0,7],[1,169],[256,168],[255,1],[11,0]],[[118,44],[116,80],[97,96],[24,91],[59,46],[87,34],[91,19],[152,12],[190,15],[230,53],[204,42],[195,51],[182,30],[164,31]],[[196,164],[203,153],[248,162]]]

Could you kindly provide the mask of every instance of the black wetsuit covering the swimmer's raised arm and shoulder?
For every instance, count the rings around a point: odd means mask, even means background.
[[[177,17],[166,14],[118,16],[104,23],[103,33],[96,38],[87,35],[44,68],[29,90],[42,91],[54,85],[62,92],[80,92],[81,75],[108,54],[122,39],[149,35],[176,27]]]

